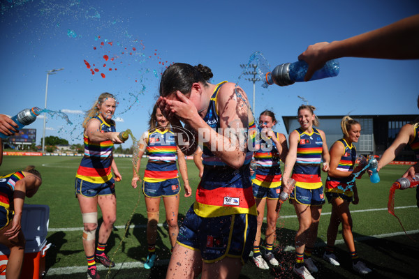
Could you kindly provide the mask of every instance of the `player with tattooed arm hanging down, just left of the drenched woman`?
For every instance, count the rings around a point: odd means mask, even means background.
[[[179,225],[177,215],[179,213],[179,175],[176,167],[176,156],[179,162],[179,172],[182,175],[185,187],[185,197],[191,196],[189,186],[186,159],[179,146],[175,142],[175,134],[172,132],[170,123],[161,113],[159,107],[154,105],[150,115],[149,130],[147,130],[138,142],[137,160],[134,159],[133,179],[131,186],[137,188],[140,180],[138,173],[141,158],[145,151],[149,153],[149,160],[145,167],[142,193],[145,195],[147,208],[147,244],[148,255],[144,264],[145,269],[151,269],[156,260],[157,225],[159,223],[160,200],[163,198],[166,209],[166,222],[169,227],[169,239],[172,248],[175,246]]]

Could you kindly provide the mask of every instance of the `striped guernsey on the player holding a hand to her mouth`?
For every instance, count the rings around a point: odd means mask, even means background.
[[[274,137],[279,141],[279,134],[274,132]],[[253,153],[258,168],[256,169],[256,179],[253,183],[266,188],[276,188],[281,186],[281,165],[279,151],[272,140],[269,144],[260,139],[256,143],[256,151]]]

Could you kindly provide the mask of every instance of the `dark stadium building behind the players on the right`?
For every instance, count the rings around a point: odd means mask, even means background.
[[[342,137],[340,121],[344,116],[317,116],[320,121],[320,126],[318,126],[318,128],[325,132],[326,142],[330,149],[332,144]],[[418,117],[418,115],[414,114],[351,115],[351,118],[361,124],[360,140],[355,143],[357,153],[381,156],[385,149],[387,149],[395,140],[400,128],[406,123],[413,122],[416,117]],[[286,133],[288,135],[296,128],[300,128],[300,123],[298,123],[296,116],[282,116],[282,120],[284,121]],[[395,160],[416,161],[416,158],[411,148],[406,146]]]

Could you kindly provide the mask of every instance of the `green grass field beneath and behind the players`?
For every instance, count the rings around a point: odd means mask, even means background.
[[[86,258],[82,248],[82,218],[78,201],[74,196],[75,172],[80,164],[80,157],[23,157],[4,156],[0,174],[8,174],[23,169],[26,165],[35,165],[43,176],[43,185],[27,204],[47,204],[50,206],[50,223],[47,242],[52,247],[47,250],[46,278],[86,278]],[[108,241],[107,253],[117,263],[108,272],[99,269],[102,278],[165,278],[170,258],[170,243],[165,224],[159,227],[159,239],[156,244],[159,261],[151,270],[142,268],[147,257],[145,225],[147,213],[140,187],[131,187],[132,164],[130,158],[115,158],[123,179],[116,183],[117,221],[115,230]],[[142,159],[140,174],[143,174],[146,160]],[[179,220],[194,201],[198,186],[198,172],[192,160],[188,160],[189,181],[193,196],[183,197],[179,207]],[[386,208],[389,189],[401,176],[406,166],[388,165],[381,172],[381,182],[373,184],[367,176],[357,181],[360,204],[351,205],[353,217],[353,235],[358,255],[374,272],[367,278],[417,278],[419,266],[419,210],[416,207],[415,190],[397,190],[395,213],[399,216],[409,236],[404,234],[397,219]],[[323,176],[325,181],[325,176]],[[326,231],[330,218],[331,205],[323,206],[323,215],[318,229],[318,241],[314,259],[318,262],[319,272],[315,278],[362,278],[351,269],[348,250],[337,238],[337,256],[341,266],[327,264],[323,255]],[[161,220],[165,211],[161,202]],[[101,223],[99,211],[99,223]],[[125,225],[131,220],[131,227],[125,234]],[[291,204],[284,204],[281,218],[277,223],[277,241],[274,243],[279,268],[261,271],[248,262],[242,269],[240,278],[294,278],[291,264],[294,260],[292,250],[295,230],[298,227],[295,211]],[[262,236],[263,237],[263,236]],[[263,240],[261,242],[263,246]],[[263,249],[263,247],[262,247]],[[108,273],[107,273],[108,272]]]

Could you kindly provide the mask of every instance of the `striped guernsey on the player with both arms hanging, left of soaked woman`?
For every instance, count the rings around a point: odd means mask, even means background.
[[[145,167],[144,181],[161,182],[179,177],[175,134],[171,130],[149,131],[146,142],[149,160]]]

